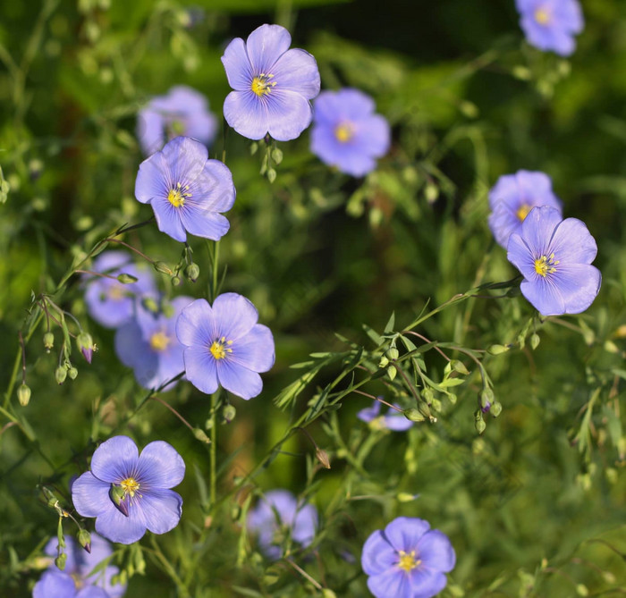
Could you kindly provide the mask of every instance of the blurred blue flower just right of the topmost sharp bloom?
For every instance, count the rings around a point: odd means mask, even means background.
[[[389,123],[374,114],[374,100],[358,89],[323,91],[314,102],[311,151],[323,162],[352,176],[376,168],[389,150]]]

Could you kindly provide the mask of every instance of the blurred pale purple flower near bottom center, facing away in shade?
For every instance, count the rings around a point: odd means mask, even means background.
[[[317,529],[317,510],[296,501],[288,490],[270,490],[248,514],[248,529],[258,535],[258,544],[270,559],[283,556],[285,540],[306,548]]]

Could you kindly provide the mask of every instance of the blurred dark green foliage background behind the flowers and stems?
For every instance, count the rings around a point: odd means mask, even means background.
[[[279,144],[284,160],[273,184],[258,173],[261,152],[251,155],[250,141],[234,131],[209,148],[220,159],[225,150],[238,191],[221,244],[223,290],[255,303],[277,350],[264,392],[250,402],[235,398],[237,417],[219,427],[219,488],[262,459],[317,385],[337,375],[338,366],[322,371],[293,411],[272,402],[300,375],[293,363],[345,350],[334,333],[373,350],[361,324],[380,333],[395,312],[401,330],[428,301],[434,307],[481,282],[512,278],[486,225],[486,193],[503,173],[541,170],[553,178],[564,215],[582,219],[595,236],[604,282],[587,314],[539,324],[537,350],[516,346],[485,359],[502,416],[478,437],[476,375],[436,424],[407,434],[370,431],[355,419],[369,401],[351,394],[308,428],[331,455],[329,471],[312,471],[309,439],[296,434],[255,482],[306,491],[316,504],[317,558],[300,566],[337,596],[368,595],[360,547],[401,514],[427,518],[451,537],[457,567],[443,595],[624,594],[626,3],[589,0],[583,10],[586,28],[565,61],[523,42],[513,0],[2,3],[0,166],[10,186],[0,206],[2,388],[13,391],[31,291],[54,291],[97,240],[151,215],[133,198],[143,159],[135,139],[140,107],[186,84],[207,95],[221,121],[225,45],[277,22],[290,29],[293,46],[316,56],[323,88],[356,87],[376,99],[392,124],[393,147],[376,172],[354,180],[310,155],[305,131]],[[154,225],[124,240],[170,265],[182,250]],[[207,246],[190,245],[199,281],[173,288],[162,276],[167,294],[206,296]],[[187,462],[177,489],[182,524],[159,543],[177,570],[203,555],[193,595],[321,595],[240,541],[241,496],[224,503],[218,520],[204,521],[198,479],[208,476],[207,450],[169,411],[149,402],[117,429],[145,392],[115,357],[113,333],[89,322],[77,277],[59,300],[87,324],[99,350],[91,366],[76,358],[78,378],[58,386],[58,355],[44,351],[40,327],[26,350],[30,404],[22,408],[14,391],[5,397],[5,413],[26,422],[34,440],[18,426],[1,428],[2,595],[30,595],[38,551],[55,535],[55,511],[37,484],[67,497],[70,476],[114,430],[140,445],[167,440]],[[516,342],[531,316],[522,298],[471,299],[419,332],[486,349]],[[427,365],[441,375],[441,359],[428,354]],[[371,383],[368,392],[385,386]],[[204,425],[207,397],[189,384],[163,398]],[[11,422],[5,413],[0,425]],[[364,443],[360,468],[346,453],[359,454]],[[419,497],[403,502],[401,493]],[[200,545],[203,521],[210,530]],[[269,583],[275,571],[278,581]],[[130,584],[128,595],[178,595],[152,559],[147,575]]]

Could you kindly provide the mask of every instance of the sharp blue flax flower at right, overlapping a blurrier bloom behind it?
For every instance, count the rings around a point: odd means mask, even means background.
[[[521,293],[543,316],[579,314],[596,299],[602,275],[590,265],[596,240],[577,218],[534,208],[509,240],[507,257],[524,280]]]

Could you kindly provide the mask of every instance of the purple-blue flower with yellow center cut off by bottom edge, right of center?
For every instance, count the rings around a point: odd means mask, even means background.
[[[424,519],[399,517],[363,545],[361,566],[376,598],[431,598],[441,592],[456,555],[448,536]]]

